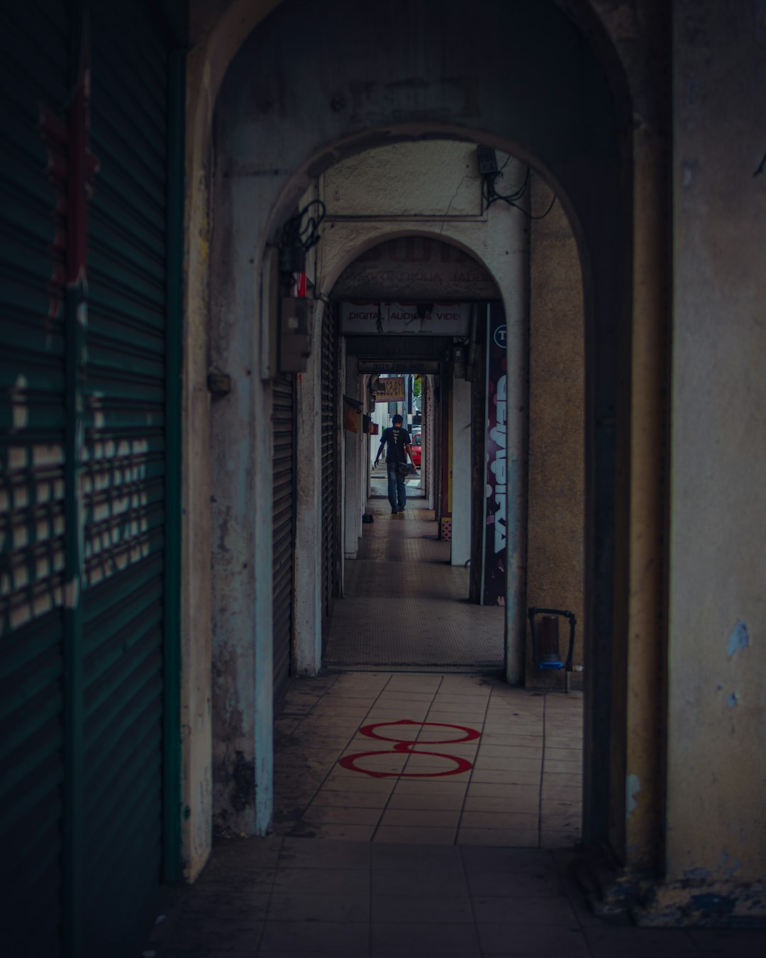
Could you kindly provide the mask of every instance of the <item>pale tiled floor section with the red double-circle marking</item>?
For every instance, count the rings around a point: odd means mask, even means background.
[[[579,839],[581,696],[485,676],[349,673],[292,683],[277,727],[278,833],[515,848]]]

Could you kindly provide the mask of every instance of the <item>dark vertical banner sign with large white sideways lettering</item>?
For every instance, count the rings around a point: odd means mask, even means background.
[[[483,605],[506,603],[507,364],[506,314],[491,303],[486,319],[486,484]]]

